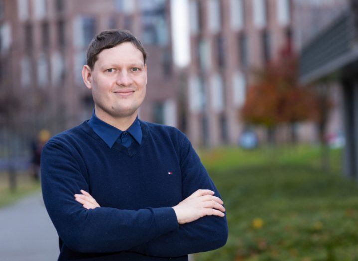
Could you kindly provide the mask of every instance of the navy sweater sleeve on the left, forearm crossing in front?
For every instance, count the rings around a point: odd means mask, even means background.
[[[173,208],[85,209],[75,200],[89,189],[79,154],[50,142],[41,155],[41,185],[47,212],[64,244],[76,252],[118,252],[178,230]]]

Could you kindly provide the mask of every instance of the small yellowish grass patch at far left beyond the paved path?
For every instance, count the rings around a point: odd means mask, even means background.
[[[8,174],[0,172],[0,208],[14,203],[34,191],[39,191],[40,187],[40,183],[30,179],[28,173],[18,173],[17,190],[11,192],[9,188]]]

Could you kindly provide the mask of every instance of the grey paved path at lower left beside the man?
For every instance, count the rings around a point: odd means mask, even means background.
[[[56,261],[57,232],[40,193],[0,209],[1,261]]]

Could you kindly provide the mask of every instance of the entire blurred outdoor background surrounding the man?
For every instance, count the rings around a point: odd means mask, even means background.
[[[90,118],[104,29],[148,52],[139,117],[185,132],[227,209],[209,261],[358,260],[357,0],[0,0],[0,260],[56,260],[39,161]]]

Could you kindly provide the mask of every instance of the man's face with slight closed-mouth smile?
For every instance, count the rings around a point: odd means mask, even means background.
[[[88,83],[96,113],[112,118],[136,114],[146,95],[147,67],[142,52],[130,42],[102,50]]]

